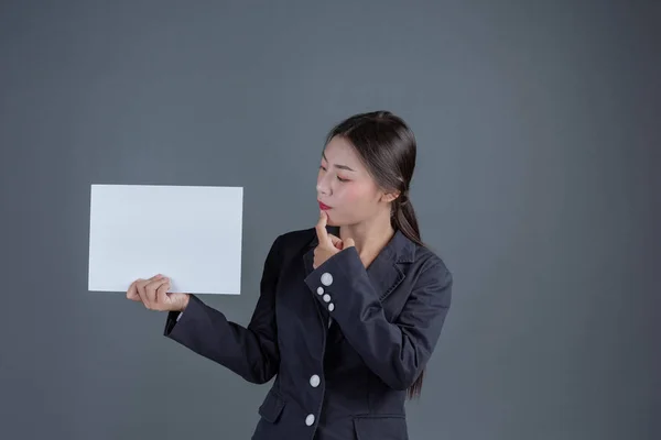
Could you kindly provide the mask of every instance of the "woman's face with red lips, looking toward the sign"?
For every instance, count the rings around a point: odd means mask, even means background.
[[[354,146],[333,138],[322,155],[317,199],[326,209],[329,226],[356,224],[379,215],[390,216],[392,197],[384,194],[362,165]]]

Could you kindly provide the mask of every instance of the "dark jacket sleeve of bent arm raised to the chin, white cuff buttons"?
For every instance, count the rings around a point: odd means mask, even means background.
[[[354,246],[328,258],[305,283],[375,374],[393,389],[407,389],[415,382],[449,309],[452,274],[441,258],[431,260],[422,270],[393,322],[387,320]],[[324,295],[316,295],[319,287],[332,298],[328,302]]]

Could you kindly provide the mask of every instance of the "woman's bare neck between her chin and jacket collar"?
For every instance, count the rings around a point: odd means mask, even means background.
[[[381,252],[394,235],[394,229],[390,224],[390,215],[378,216],[356,224],[346,224],[339,228],[339,238],[344,241],[348,238],[356,242],[356,251],[366,266]]]

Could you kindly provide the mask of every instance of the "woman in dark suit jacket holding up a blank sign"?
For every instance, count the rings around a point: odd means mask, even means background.
[[[451,304],[452,275],[409,200],[415,140],[397,116],[354,116],[326,139],[315,228],[278,237],[243,328],[158,275],[127,297],[169,310],[164,334],[246,381],[273,385],[253,439],[408,439]]]

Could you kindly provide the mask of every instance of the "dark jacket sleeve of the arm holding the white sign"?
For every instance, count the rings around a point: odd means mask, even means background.
[[[275,326],[275,285],[280,273],[280,237],[266,258],[260,295],[248,327],[228,321],[225,315],[191,295],[188,306],[169,312],[164,336],[215,361],[248,382],[263,384],[278,372],[280,352]]]

